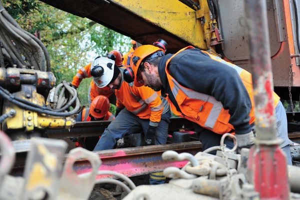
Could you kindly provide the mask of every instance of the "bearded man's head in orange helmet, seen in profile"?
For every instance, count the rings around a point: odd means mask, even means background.
[[[161,89],[157,66],[164,52],[164,49],[154,45],[142,45],[134,50],[131,68],[134,72],[135,86],[145,85],[156,91]]]

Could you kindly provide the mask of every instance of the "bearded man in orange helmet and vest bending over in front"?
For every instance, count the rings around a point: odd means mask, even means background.
[[[193,122],[202,149],[220,145],[224,133],[235,133],[238,148],[254,143],[255,115],[251,73],[207,51],[187,46],[174,54],[142,45],[132,54],[135,86],[167,94],[174,114]],[[277,136],[291,164],[286,113],[273,92]],[[227,147],[233,147],[225,139]]]

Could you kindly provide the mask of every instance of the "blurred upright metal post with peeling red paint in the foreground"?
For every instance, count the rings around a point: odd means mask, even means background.
[[[246,0],[245,11],[256,118],[256,140],[250,149],[248,169],[261,199],[288,199],[287,165],[276,137],[266,2]]]

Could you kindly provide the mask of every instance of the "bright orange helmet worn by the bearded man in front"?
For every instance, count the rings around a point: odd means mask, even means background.
[[[163,53],[155,53],[157,51],[160,51],[160,52],[162,51]],[[133,74],[134,74],[134,85],[135,86],[140,87],[143,85],[143,83],[140,83],[137,81],[137,79],[138,79],[137,76],[140,75],[140,74],[137,74],[137,71],[138,71],[139,66],[142,63],[142,60],[151,54],[152,54],[151,57],[154,58],[157,56],[162,56],[164,53],[165,53],[164,49],[159,48],[154,45],[151,45],[151,44],[141,45],[134,50],[134,52],[131,56],[130,63],[131,63],[131,68],[132,68]]]

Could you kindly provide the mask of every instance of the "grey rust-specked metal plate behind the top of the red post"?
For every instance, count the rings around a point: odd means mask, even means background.
[[[246,30],[244,1],[218,0],[219,20],[224,38],[223,52],[230,60],[249,59],[248,35]],[[276,16],[277,17],[277,16]],[[272,0],[267,0],[267,18],[271,56],[280,48],[277,24]],[[281,31],[281,30],[280,30]]]

